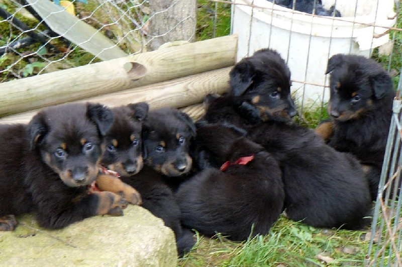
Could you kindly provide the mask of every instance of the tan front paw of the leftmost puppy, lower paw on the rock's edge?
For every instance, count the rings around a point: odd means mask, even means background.
[[[127,201],[112,192],[95,192],[98,197],[96,215],[123,216],[123,209],[127,208]]]

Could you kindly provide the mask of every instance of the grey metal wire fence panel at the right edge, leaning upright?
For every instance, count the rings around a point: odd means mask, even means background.
[[[399,93],[400,90],[399,82]],[[366,266],[402,266],[401,108],[402,100],[398,96],[393,103]]]

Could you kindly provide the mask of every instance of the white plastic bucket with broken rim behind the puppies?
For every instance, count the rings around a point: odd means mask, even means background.
[[[290,68],[299,104],[328,101],[328,58],[338,53],[369,57],[372,48],[389,41],[389,29],[378,26],[392,27],[396,21],[393,0],[336,1],[342,16],[356,16],[316,17],[292,13],[266,0],[232,0],[232,33],[239,37],[237,61],[261,48],[275,49]],[[322,2],[328,9],[335,0]]]

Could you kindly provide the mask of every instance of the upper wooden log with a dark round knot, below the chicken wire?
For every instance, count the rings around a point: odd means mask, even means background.
[[[0,117],[235,64],[237,37],[172,46],[0,84]]]

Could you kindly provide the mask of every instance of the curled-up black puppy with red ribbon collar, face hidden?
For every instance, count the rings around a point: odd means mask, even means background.
[[[262,146],[219,124],[197,128],[195,143],[221,168],[206,168],[180,185],[176,198],[182,224],[236,241],[268,233],[285,198],[277,161]]]

